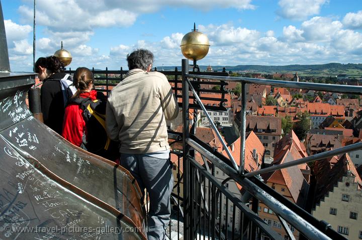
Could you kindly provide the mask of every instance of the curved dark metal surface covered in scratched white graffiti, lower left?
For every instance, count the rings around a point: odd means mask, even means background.
[[[31,83],[23,85],[24,78],[15,80],[19,86],[0,86],[7,93],[0,93],[0,239],[145,239],[134,178],[34,119],[25,104]],[[78,228],[61,234],[18,232],[17,226]],[[122,232],[109,232],[111,227]]]

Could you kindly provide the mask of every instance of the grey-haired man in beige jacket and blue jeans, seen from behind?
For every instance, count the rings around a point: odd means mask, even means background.
[[[143,197],[144,188],[149,193],[148,239],[164,239],[173,187],[166,120],[177,117],[177,100],[167,78],[150,72],[150,51],[136,50],[127,62],[127,77],[108,98],[106,128],[120,141],[120,164],[136,178]]]

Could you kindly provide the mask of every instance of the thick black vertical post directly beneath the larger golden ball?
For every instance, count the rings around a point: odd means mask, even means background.
[[[186,74],[189,74],[189,60],[182,60],[182,84],[183,84],[183,167],[184,167],[184,238],[191,239],[192,226],[192,209],[190,209],[189,198],[190,192],[190,173],[189,173],[189,160],[188,155],[190,152],[190,145],[187,144],[186,139],[190,137],[189,129],[189,84],[186,81]]]

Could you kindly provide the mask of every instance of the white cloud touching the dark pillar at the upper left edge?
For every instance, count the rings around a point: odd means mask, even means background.
[[[4,20],[5,32],[7,35],[7,41],[9,47],[13,46],[13,41],[20,41],[26,39],[33,31],[33,28],[29,25],[19,25],[14,23],[12,20]]]

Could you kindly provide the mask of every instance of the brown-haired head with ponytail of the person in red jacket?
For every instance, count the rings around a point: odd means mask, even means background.
[[[81,67],[75,70],[73,76],[73,85],[77,89],[74,97],[78,97],[80,93],[90,92],[94,84],[94,75],[91,70]]]

